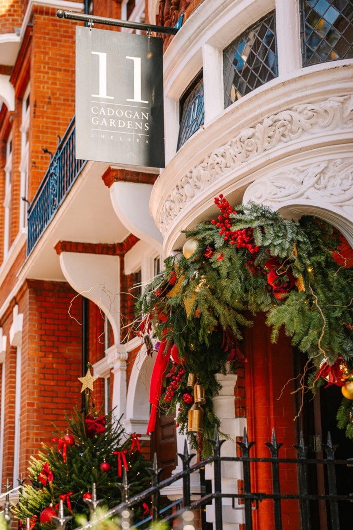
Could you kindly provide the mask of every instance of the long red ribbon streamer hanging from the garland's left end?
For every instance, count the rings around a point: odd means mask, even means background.
[[[166,332],[167,330],[164,330],[164,333]],[[152,407],[147,426],[147,434],[153,432],[156,427],[157,407],[162,394],[163,378],[167,369],[170,352],[173,346],[172,344],[170,344],[166,349],[166,344],[167,340],[162,339],[160,347],[158,348],[157,357],[152,371],[151,383],[149,385],[149,403],[151,403]],[[166,352],[164,352],[165,349]]]

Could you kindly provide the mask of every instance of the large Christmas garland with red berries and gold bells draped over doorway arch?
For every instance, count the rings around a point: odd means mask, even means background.
[[[352,271],[343,266],[339,233],[314,217],[296,223],[264,206],[233,209],[222,195],[215,203],[218,217],[186,232],[183,255],[165,260],[137,304],[146,315],[139,334],[149,353],[157,351],[148,430],[158,409],[177,408],[177,426],[207,454],[205,440],[219,426],[214,375],[246,362],[241,341],[252,321],[245,312],[264,312],[272,341],[284,327],[310,358],[308,387],[326,379],[347,391],[339,423],[351,437]]]

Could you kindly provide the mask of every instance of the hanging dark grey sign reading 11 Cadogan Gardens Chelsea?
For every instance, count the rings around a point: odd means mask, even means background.
[[[164,167],[162,39],[76,27],[76,158]]]

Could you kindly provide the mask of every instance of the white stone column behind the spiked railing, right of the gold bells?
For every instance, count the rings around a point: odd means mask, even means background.
[[[245,427],[245,418],[235,418],[234,387],[237,376],[235,374],[216,374],[218,383],[222,385],[219,394],[213,399],[215,415],[220,419],[220,431],[228,436],[220,449],[221,456],[236,456],[235,439],[242,436]],[[238,462],[226,462],[221,464],[222,469],[222,491],[224,493],[237,492],[237,481],[242,479],[241,465]],[[211,480],[214,488],[213,465],[206,466],[206,479]],[[232,499],[222,499],[223,529],[236,530],[244,523],[243,509],[232,507]],[[206,506],[206,519],[209,523],[215,523],[214,504]]]

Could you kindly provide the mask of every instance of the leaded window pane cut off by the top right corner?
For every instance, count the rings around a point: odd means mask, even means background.
[[[353,2],[301,0],[303,66],[353,57]]]

